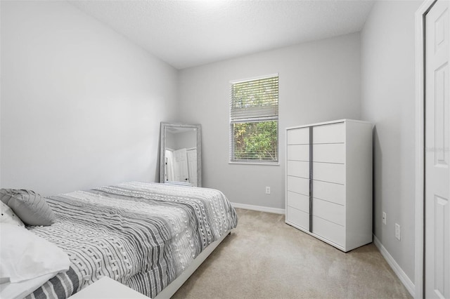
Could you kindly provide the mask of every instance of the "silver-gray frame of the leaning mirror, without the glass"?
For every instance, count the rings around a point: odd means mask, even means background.
[[[160,133],[160,182],[165,177],[166,128],[195,128],[197,129],[197,187],[202,187],[202,134],[200,124],[181,124],[161,121]]]

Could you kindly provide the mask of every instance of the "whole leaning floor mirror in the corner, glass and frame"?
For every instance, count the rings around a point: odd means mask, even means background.
[[[202,186],[199,124],[161,123],[160,182]]]

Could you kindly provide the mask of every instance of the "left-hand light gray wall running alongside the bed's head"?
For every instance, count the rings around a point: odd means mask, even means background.
[[[158,180],[176,69],[66,1],[1,1],[1,187]]]

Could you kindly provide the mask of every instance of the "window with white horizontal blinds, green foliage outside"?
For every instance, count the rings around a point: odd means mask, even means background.
[[[278,164],[278,74],[231,82],[230,161]]]

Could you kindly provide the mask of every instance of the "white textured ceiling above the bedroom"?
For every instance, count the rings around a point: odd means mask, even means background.
[[[177,69],[358,32],[373,0],[70,1]]]

